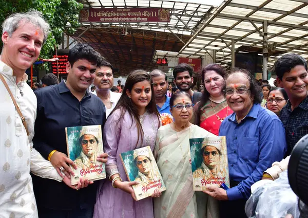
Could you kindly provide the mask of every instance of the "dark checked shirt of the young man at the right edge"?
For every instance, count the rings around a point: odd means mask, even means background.
[[[308,96],[293,111],[291,106],[289,100],[280,112],[286,135],[287,155],[291,154],[298,140],[308,134]]]

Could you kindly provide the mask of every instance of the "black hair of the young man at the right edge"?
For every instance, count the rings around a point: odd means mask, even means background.
[[[274,71],[277,77],[282,81],[283,75],[286,72],[290,72],[291,69],[297,65],[304,66],[307,71],[307,62],[303,57],[296,53],[285,54],[275,62]]]

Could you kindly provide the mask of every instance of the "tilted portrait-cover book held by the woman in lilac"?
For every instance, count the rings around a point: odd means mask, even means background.
[[[120,154],[129,181],[138,181],[132,186],[137,201],[149,197],[155,189],[165,191],[166,186],[149,146]]]

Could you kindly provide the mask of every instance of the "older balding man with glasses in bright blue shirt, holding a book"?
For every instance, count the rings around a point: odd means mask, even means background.
[[[283,124],[277,115],[261,107],[259,86],[244,69],[231,70],[225,87],[234,113],[222,122],[219,136],[226,136],[230,189],[209,186],[205,193],[220,200],[220,217],[246,217],[244,207],[251,186],[286,152]]]

